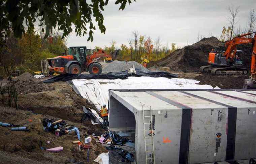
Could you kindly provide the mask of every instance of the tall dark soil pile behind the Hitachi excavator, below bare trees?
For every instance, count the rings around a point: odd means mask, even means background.
[[[216,37],[203,38],[192,45],[187,45],[182,49],[175,50],[169,56],[149,63],[148,67],[169,67],[175,71],[197,70],[202,65],[207,65],[208,54],[212,48],[224,51],[224,43]]]

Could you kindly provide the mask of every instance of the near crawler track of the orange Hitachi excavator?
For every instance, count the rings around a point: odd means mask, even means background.
[[[247,74],[248,69],[236,67],[218,67],[211,70],[212,75],[241,75]]]

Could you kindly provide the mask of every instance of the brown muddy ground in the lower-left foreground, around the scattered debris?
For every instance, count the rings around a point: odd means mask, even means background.
[[[14,108],[1,108],[0,120],[14,125],[27,126],[31,132],[10,131],[10,128],[0,127],[0,163],[5,164],[27,164],[27,163],[70,163],[70,160],[76,162],[95,163],[102,152],[107,152],[105,147],[93,138],[93,147],[89,151],[89,162],[87,161],[87,150],[82,150],[78,153],[77,144],[72,144],[71,141],[77,140],[76,135],[56,136],[51,132],[45,132],[42,127],[43,118],[56,119],[49,115],[34,114],[26,110],[15,111]],[[78,124],[65,120],[69,125],[74,125],[80,130],[81,141],[88,136],[91,127],[88,125]],[[89,124],[89,123],[87,123]],[[91,123],[90,123],[91,124]],[[94,125],[98,126],[98,125]],[[101,133],[104,131],[101,130]],[[51,141],[50,144],[46,143]],[[40,146],[52,148],[62,146],[61,152],[47,152],[41,150]],[[4,152],[4,153],[3,153]]]

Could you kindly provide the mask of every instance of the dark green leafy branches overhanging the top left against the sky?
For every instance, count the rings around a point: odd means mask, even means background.
[[[135,1],[135,0],[134,0]],[[119,10],[124,10],[131,0],[116,0]],[[25,25],[28,30],[34,30],[34,24],[39,19],[45,24],[45,38],[53,29],[63,30],[62,37],[72,32],[71,25],[74,24],[76,35],[87,35],[88,41],[93,41],[93,18],[101,31],[105,33],[103,15],[101,11],[108,4],[108,0],[0,0],[1,28],[13,30],[15,37],[22,37],[25,33]],[[15,11],[15,12],[14,12]],[[42,24],[40,25],[42,26]]]

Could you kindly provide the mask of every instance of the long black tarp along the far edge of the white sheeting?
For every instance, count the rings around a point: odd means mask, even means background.
[[[178,77],[176,74],[172,74],[169,72],[151,72],[151,71],[143,71],[141,69],[136,69],[136,73],[129,73],[128,71],[121,71],[121,72],[113,72],[113,73],[106,73],[100,75],[92,75],[92,74],[60,74],[58,76],[54,76],[53,78],[44,80],[43,83],[54,83],[56,81],[68,81],[72,79],[126,79],[129,76],[150,76],[150,77],[167,77],[173,78]]]

